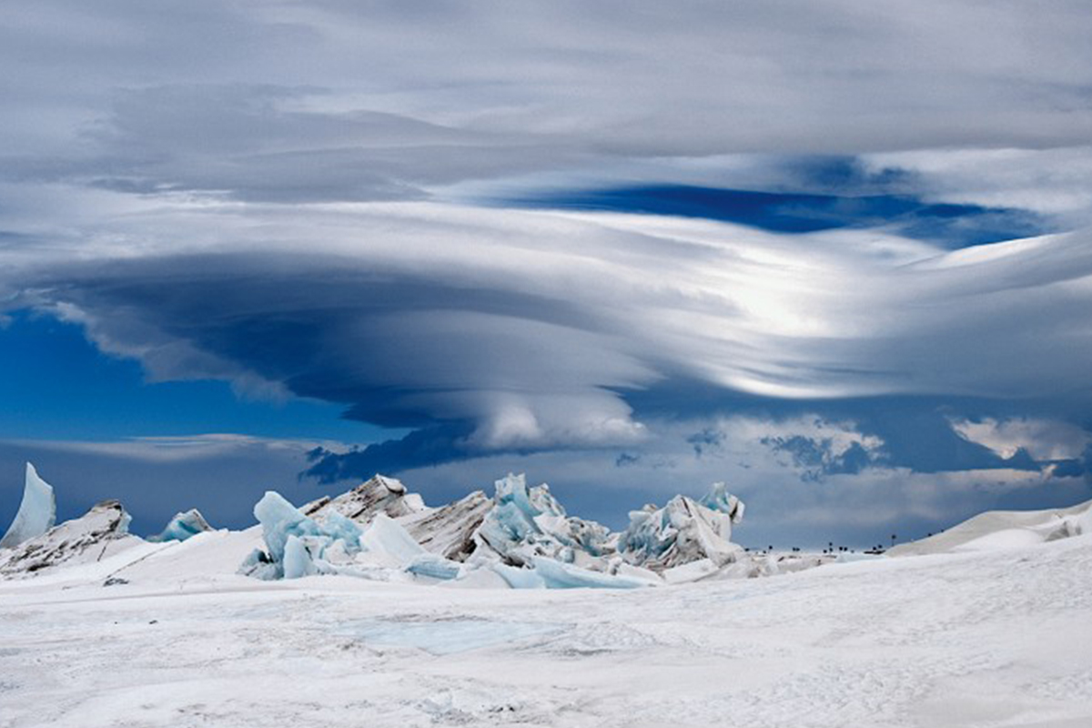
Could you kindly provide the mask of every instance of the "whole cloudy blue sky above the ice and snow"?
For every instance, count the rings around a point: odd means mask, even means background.
[[[1092,498],[1079,1],[43,0],[0,25],[0,521],[376,472],[753,546]]]

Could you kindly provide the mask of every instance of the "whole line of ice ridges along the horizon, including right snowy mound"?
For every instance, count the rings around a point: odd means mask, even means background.
[[[33,527],[13,524],[9,533],[19,538],[40,532],[41,515],[48,523],[54,512],[52,489],[33,468],[27,475],[20,512],[34,517],[20,523]],[[262,580],[341,574],[452,588],[629,589],[771,576],[835,561],[826,553],[743,549],[732,541],[743,514],[744,504],[719,482],[700,499],[676,496],[663,506],[633,511],[629,526],[612,533],[569,515],[547,486],[529,487],[522,475],[497,480],[492,497],[475,491],[440,508],[377,475],[301,508],[269,491],[254,506],[259,526],[244,532],[213,532],[198,511],[179,513],[147,541],[128,533],[120,503],[104,501],[80,518],[0,549],[0,577],[105,561],[104,585],[114,585],[154,572],[156,563],[185,562],[187,573],[212,575],[241,561],[239,574]],[[1089,534],[1092,501],[1065,510],[985,513],[891,553],[1004,549]]]

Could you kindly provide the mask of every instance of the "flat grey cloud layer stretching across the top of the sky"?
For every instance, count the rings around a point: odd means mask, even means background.
[[[56,0],[0,31],[13,71],[0,121],[22,151],[3,174],[296,202],[641,160],[693,175],[717,155],[1031,158],[1088,145],[1088,29],[1076,0],[156,13]]]

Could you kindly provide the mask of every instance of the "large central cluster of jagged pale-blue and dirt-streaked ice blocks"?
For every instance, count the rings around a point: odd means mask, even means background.
[[[513,588],[636,588],[775,573],[731,542],[743,511],[716,484],[700,501],[678,496],[637,511],[625,533],[612,534],[568,515],[548,486],[529,487],[523,475],[497,480],[491,499],[478,491],[439,509],[377,475],[301,509],[268,492],[254,508],[265,549],[239,571],[259,578],[491,580]],[[720,573],[733,564],[731,574]]]

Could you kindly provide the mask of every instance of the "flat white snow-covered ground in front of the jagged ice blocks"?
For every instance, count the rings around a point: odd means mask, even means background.
[[[0,726],[1092,726],[1092,535],[627,592],[228,575],[257,538],[0,582]]]

